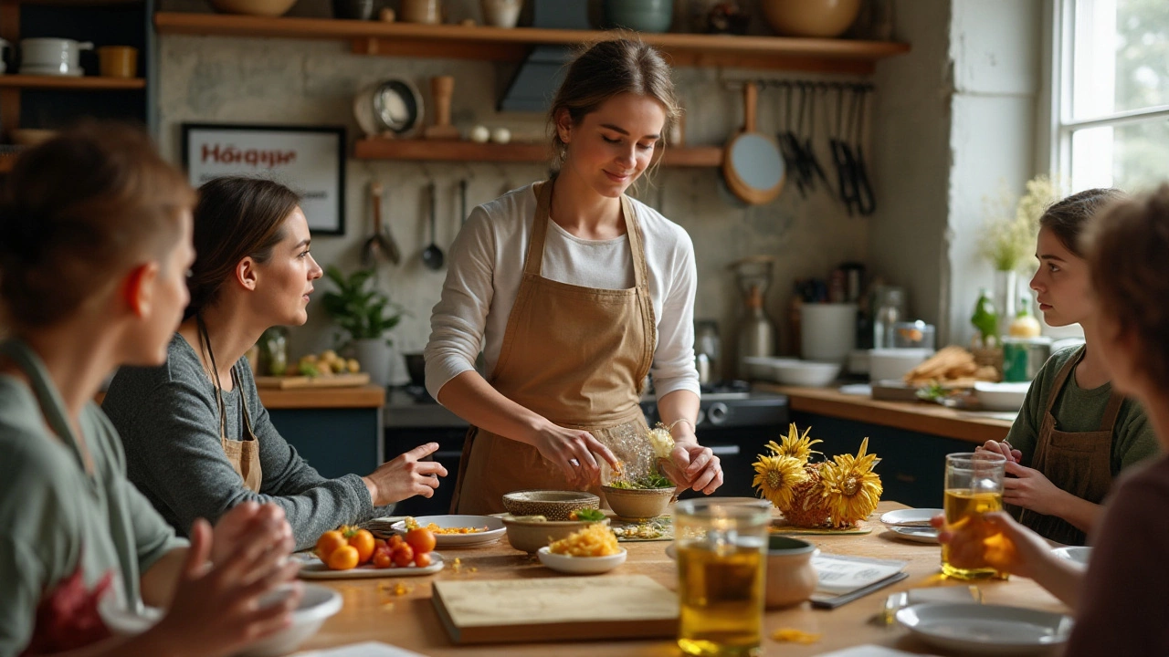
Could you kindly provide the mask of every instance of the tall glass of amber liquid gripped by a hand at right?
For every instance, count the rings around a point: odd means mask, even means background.
[[[1001,576],[985,561],[985,548],[1007,540],[1002,532],[983,520],[983,514],[1003,507],[1003,472],[1007,459],[1001,454],[976,451],[946,456],[946,525],[952,530],[973,530],[982,541],[983,555],[962,566],[950,563],[949,546],[942,545],[942,574],[960,580]]]

